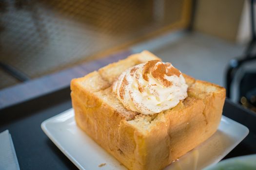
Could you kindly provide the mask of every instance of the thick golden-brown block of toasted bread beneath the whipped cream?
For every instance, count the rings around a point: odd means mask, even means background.
[[[217,131],[225,100],[225,88],[183,74],[188,98],[176,107],[151,117],[126,110],[112,83],[152,59],[158,57],[143,51],[71,82],[78,126],[130,170],[163,169],[205,141]]]

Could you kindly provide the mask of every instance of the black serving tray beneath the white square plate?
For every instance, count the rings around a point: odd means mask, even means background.
[[[43,133],[40,124],[71,108],[70,89],[0,110],[0,132],[9,129],[21,170],[71,170],[76,166]],[[225,101],[223,115],[247,126],[249,135],[225,158],[256,153],[256,114]]]

